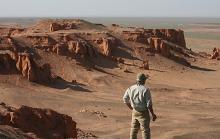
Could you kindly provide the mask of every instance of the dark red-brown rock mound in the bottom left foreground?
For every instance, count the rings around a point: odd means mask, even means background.
[[[0,104],[0,124],[32,132],[40,138],[77,138],[76,122],[70,116],[50,109],[21,106],[19,109]]]

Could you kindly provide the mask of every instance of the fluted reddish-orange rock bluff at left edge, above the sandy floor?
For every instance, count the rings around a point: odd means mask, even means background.
[[[0,51],[0,71],[2,73],[19,72],[32,82],[51,82],[50,66],[37,66],[29,53],[18,53],[11,50]]]

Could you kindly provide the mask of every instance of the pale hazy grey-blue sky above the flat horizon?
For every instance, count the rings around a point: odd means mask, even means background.
[[[0,0],[0,17],[220,17],[220,0]]]

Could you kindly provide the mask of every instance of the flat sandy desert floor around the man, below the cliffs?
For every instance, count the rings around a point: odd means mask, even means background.
[[[219,62],[202,60],[194,64],[204,69],[178,65],[172,69],[151,63],[151,70],[144,71],[150,75],[147,85],[158,115],[158,120],[151,123],[154,139],[220,138]],[[109,74],[93,71],[87,77],[82,71],[87,85],[61,89],[28,83],[16,75],[1,75],[0,101],[17,107],[51,108],[72,116],[79,128],[99,138],[126,139],[131,111],[122,96],[134,84],[136,73],[141,72],[136,67],[128,68],[131,73],[114,68],[105,69]]]

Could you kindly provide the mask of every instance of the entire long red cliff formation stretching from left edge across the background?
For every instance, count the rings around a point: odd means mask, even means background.
[[[149,69],[148,55],[159,54],[190,66],[190,51],[182,30],[119,25],[107,28],[82,20],[46,20],[23,29],[0,29],[0,33],[0,72],[18,72],[29,81],[40,83],[52,81],[51,68],[63,68],[51,66],[44,59],[51,60],[52,55],[87,61],[94,67],[100,64],[94,61],[100,59],[125,64],[125,59],[137,54],[143,60],[140,67]],[[67,73],[53,74],[65,78],[62,75]]]

